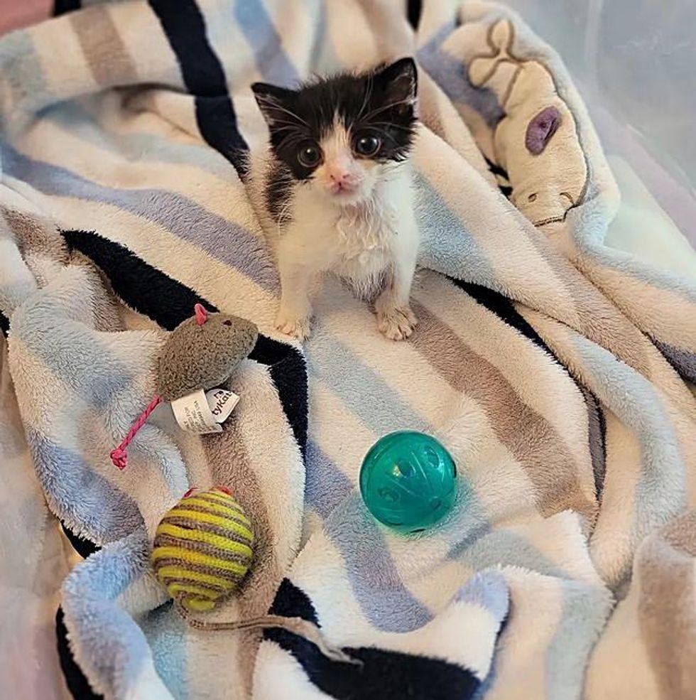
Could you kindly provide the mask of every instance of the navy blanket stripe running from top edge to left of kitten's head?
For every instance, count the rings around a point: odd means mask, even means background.
[[[239,133],[222,63],[207,39],[205,18],[193,0],[149,0],[195,98],[196,121],[209,146],[246,176],[249,146]]]

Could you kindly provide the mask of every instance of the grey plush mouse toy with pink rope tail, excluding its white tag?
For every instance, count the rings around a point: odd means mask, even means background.
[[[126,468],[129,444],[161,402],[219,387],[256,345],[259,331],[254,323],[227,313],[211,313],[200,303],[193,311],[192,317],[172,331],[160,352],[155,396],[111,451],[112,462],[119,469]]]

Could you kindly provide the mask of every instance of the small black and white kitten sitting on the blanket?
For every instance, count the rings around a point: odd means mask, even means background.
[[[408,156],[416,82],[415,63],[403,58],[298,90],[251,86],[271,134],[251,178],[261,181],[265,202],[257,208],[267,212],[281,276],[281,332],[308,337],[310,294],[325,272],[364,296],[381,291],[374,308],[387,338],[413,332],[418,227]]]

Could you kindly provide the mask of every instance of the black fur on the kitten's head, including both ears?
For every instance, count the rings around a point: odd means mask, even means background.
[[[342,73],[305,83],[298,90],[257,82],[251,86],[271,131],[271,147],[297,180],[307,180],[320,165],[305,166],[298,152],[319,147],[338,116],[352,139],[375,136],[381,141],[371,158],[403,161],[415,129],[417,74],[412,58],[355,75]]]

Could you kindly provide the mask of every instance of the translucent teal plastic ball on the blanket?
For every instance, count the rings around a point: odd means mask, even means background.
[[[415,431],[391,433],[366,454],[360,492],[379,522],[398,532],[420,532],[454,505],[457,467],[435,438]]]

